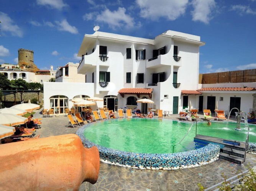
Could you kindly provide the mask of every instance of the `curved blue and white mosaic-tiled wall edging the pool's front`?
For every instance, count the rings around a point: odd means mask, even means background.
[[[137,168],[176,168],[190,165],[194,166],[213,160],[213,158],[216,159],[217,155],[220,153],[220,146],[215,144],[208,144],[207,146],[192,151],[167,154],[118,151],[97,145],[86,139],[83,134],[84,128],[87,128],[90,125],[91,124],[88,124],[78,129],[76,134],[82,139],[85,147],[90,148],[96,146],[100,153],[100,159],[112,164]]]

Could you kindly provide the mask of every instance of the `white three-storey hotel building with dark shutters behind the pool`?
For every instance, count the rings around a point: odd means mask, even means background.
[[[137,107],[142,112],[152,107],[178,113],[182,90],[199,89],[202,45],[199,36],[176,31],[163,32],[155,39],[99,31],[85,34],[77,68],[78,74],[85,75],[85,83],[44,83],[44,108],[56,108],[59,102],[63,113],[73,106],[74,97],[103,97],[97,107]],[[192,96],[192,105],[198,105],[198,97]],[[154,104],[136,106],[136,100],[142,98],[152,99]]]

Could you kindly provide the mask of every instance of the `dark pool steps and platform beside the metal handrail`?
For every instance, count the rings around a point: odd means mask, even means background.
[[[245,142],[226,140],[200,134],[195,136],[194,141],[220,145],[220,159],[240,165],[245,160]]]

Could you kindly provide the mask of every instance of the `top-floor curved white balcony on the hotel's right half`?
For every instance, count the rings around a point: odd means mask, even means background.
[[[171,66],[171,60],[168,58],[168,54],[158,55],[158,57],[154,57],[148,59],[146,61],[146,68],[159,68],[161,66]]]

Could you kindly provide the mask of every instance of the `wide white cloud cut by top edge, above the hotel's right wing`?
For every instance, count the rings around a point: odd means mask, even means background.
[[[143,18],[157,20],[160,17],[174,21],[179,16],[185,13],[188,5],[188,0],[136,0],[140,10],[140,15]]]

